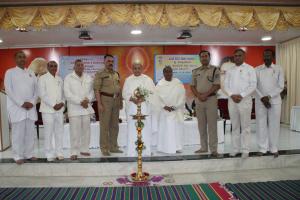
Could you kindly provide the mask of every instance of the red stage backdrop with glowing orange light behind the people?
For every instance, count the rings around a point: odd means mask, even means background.
[[[143,73],[154,78],[154,58],[156,55],[198,55],[201,50],[211,53],[211,64],[219,65],[226,56],[232,56],[237,48],[246,51],[245,62],[256,67],[263,63],[262,54],[265,49],[275,50],[275,46],[223,46],[223,45],[191,45],[191,46],[90,46],[90,47],[49,47],[25,49],[0,49],[0,78],[4,78],[5,71],[14,67],[14,54],[24,50],[27,56],[27,65],[36,57],[46,60],[55,60],[59,63],[60,56],[99,56],[106,53],[117,57],[118,71],[123,84],[126,77],[132,74],[131,64],[140,62],[144,67]],[[188,100],[192,93],[188,84],[185,84]]]

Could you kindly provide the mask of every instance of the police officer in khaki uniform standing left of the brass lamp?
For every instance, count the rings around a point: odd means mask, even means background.
[[[113,70],[114,58],[104,56],[105,68],[95,75],[94,90],[100,122],[100,148],[104,156],[122,153],[118,147],[119,112],[122,109],[120,77]]]

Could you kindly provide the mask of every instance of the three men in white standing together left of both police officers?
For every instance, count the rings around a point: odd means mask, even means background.
[[[55,61],[47,63],[47,73],[36,74],[25,68],[23,51],[15,54],[17,66],[5,74],[8,117],[12,127],[12,150],[17,164],[36,160],[34,156],[35,105],[40,98],[40,112],[44,124],[44,150],[48,161],[63,160],[63,132],[65,100],[70,122],[71,159],[80,153],[89,156],[90,116],[94,113],[93,79],[85,74],[81,60],[76,60],[74,71],[63,81],[57,75]]]

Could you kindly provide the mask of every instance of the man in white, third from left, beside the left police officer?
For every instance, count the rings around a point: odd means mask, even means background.
[[[75,61],[74,71],[64,81],[70,121],[71,160],[76,160],[79,152],[83,156],[90,156],[90,117],[94,113],[91,106],[94,91],[93,79],[83,71],[83,62],[78,59]]]

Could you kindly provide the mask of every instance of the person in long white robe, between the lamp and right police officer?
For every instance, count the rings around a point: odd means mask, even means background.
[[[163,74],[156,85],[160,108],[157,150],[174,154],[182,150],[185,89],[180,80],[173,78],[170,66],[164,68]]]

